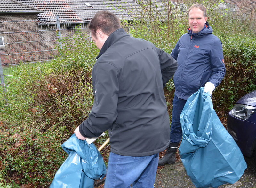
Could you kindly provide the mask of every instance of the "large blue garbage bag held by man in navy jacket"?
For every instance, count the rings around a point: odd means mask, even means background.
[[[204,88],[188,98],[180,122],[180,158],[196,187],[219,187],[240,179],[247,168],[243,154],[220,122]]]

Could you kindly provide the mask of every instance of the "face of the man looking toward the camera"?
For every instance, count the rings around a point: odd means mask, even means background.
[[[202,10],[193,8],[188,14],[188,23],[193,33],[198,33],[204,28],[204,24],[207,21],[207,17],[204,17]]]

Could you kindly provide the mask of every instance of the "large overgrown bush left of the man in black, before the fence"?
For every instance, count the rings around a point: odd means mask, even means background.
[[[0,172],[8,183],[49,187],[67,158],[61,144],[89,115],[99,50],[79,29],[72,37],[61,41],[55,60],[18,66],[12,88],[1,96]],[[107,137],[106,132],[95,144]]]

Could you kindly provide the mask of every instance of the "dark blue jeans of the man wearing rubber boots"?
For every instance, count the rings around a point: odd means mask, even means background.
[[[174,95],[172,102],[172,124],[171,124],[171,133],[170,133],[170,142],[180,143],[182,139],[182,129],[180,124],[180,114],[186,104],[187,100],[180,99]]]

